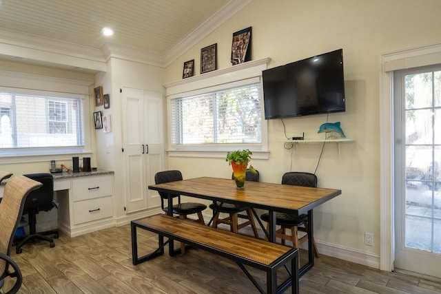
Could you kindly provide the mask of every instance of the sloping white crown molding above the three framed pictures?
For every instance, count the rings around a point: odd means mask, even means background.
[[[223,8],[220,8],[216,14],[213,14],[212,17],[198,25],[192,32],[183,36],[180,41],[178,41],[170,50],[167,50],[164,54],[164,62],[167,67],[178,59],[179,56],[183,54],[183,52],[187,51],[194,44],[198,43],[206,36],[211,34],[214,30],[216,30],[220,25],[225,23],[228,19],[234,16],[237,12],[248,6],[249,3],[252,3],[254,0],[231,0]]]

